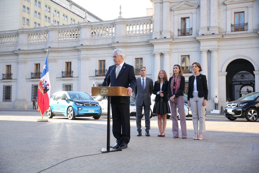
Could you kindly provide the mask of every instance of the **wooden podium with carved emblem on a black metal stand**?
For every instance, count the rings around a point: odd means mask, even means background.
[[[113,148],[110,150],[110,125],[111,125],[111,96],[128,96],[128,89],[121,86],[100,86],[92,87],[93,96],[108,96],[107,107],[107,146],[102,148],[102,153],[111,151],[122,151],[122,149]]]

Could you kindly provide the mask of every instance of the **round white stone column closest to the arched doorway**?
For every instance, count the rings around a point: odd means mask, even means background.
[[[211,51],[211,64],[210,64],[210,99],[213,99],[215,95],[218,95],[218,50]],[[220,81],[221,82],[221,81]],[[221,84],[220,84],[221,86]],[[226,85],[225,85],[226,86]],[[224,87],[225,87],[224,86]]]

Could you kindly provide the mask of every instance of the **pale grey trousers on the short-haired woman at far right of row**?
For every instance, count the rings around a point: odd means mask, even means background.
[[[204,97],[198,97],[198,92],[193,93],[193,98],[190,98],[194,133],[198,133],[198,127],[199,133],[205,132],[205,106],[202,106],[203,100]]]

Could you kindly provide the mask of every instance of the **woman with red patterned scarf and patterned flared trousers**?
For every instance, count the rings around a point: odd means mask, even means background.
[[[177,111],[176,106],[178,107],[178,112],[180,116],[180,125],[182,129],[182,138],[187,138],[187,129],[186,129],[186,120],[185,120],[185,112],[184,112],[184,86],[185,86],[185,78],[182,75],[182,68],[180,65],[174,65],[173,76],[169,79],[168,82],[168,94],[169,94],[169,102],[171,107],[171,119],[173,121],[173,138],[179,138],[179,128],[177,121]]]

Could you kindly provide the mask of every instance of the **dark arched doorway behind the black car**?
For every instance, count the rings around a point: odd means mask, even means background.
[[[245,59],[236,59],[226,67],[226,99],[233,101],[240,97],[241,89],[251,86],[255,91],[254,66]],[[251,88],[250,88],[251,89]]]

